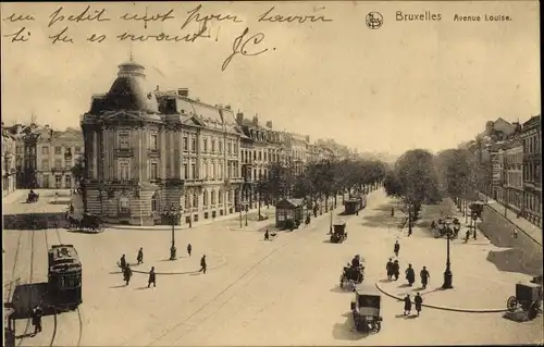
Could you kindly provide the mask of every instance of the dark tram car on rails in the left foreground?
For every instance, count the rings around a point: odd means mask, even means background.
[[[48,252],[49,296],[57,309],[74,310],[82,300],[82,262],[73,245],[53,245]]]

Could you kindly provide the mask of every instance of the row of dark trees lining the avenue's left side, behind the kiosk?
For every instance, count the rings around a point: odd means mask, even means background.
[[[327,212],[330,202],[337,206],[338,195],[362,193],[370,185],[382,182],[387,164],[368,159],[324,159],[308,163],[299,174],[282,163],[271,163],[268,169],[268,176],[257,184],[259,202],[285,197],[304,198],[308,206],[323,201]]]

